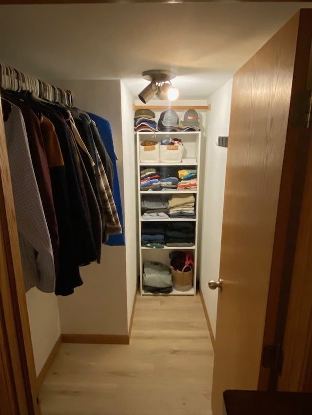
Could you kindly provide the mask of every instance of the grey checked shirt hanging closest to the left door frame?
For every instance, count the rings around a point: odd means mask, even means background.
[[[4,123],[25,289],[54,292],[52,244],[32,164],[22,113],[11,104]],[[36,271],[34,271],[36,270]]]

